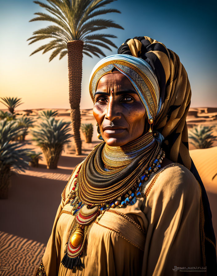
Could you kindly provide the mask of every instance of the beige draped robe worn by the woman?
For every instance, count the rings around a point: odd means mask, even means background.
[[[173,163],[152,174],[143,185],[145,196],[134,205],[110,209],[94,222],[81,257],[83,269],[61,266],[74,219],[67,196],[78,168],[62,193],[42,258],[47,276],[168,276],[177,275],[175,267],[204,265],[200,187],[186,167]]]

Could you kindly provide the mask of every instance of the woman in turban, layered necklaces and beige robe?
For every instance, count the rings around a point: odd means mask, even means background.
[[[216,275],[178,56],[148,37],[129,39],[96,64],[89,88],[104,141],[74,169],[36,275],[172,275],[180,267]]]

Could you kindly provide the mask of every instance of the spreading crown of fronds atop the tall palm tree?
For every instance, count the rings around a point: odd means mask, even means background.
[[[98,16],[108,13],[120,13],[119,10],[114,8],[104,8],[114,1],[116,0],[47,0],[47,3],[34,1],[35,4],[46,10],[48,14],[36,12],[36,17],[31,19],[30,22],[48,21],[55,25],[36,30],[33,32],[33,36],[27,39],[30,41],[29,44],[46,38],[54,39],[37,48],[31,55],[42,50],[43,53],[46,53],[54,49],[49,61],[59,53],[59,59],[62,59],[67,54],[67,43],[72,40],[84,41],[83,53],[90,57],[92,55],[96,55],[97,57],[99,55],[104,56],[103,51],[99,47],[110,51],[110,46],[117,48],[110,40],[110,38],[116,38],[115,35],[94,34],[96,31],[107,28],[123,29],[122,26],[113,20],[98,18]]]

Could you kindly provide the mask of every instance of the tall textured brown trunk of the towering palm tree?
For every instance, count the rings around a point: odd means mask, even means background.
[[[84,42],[81,40],[73,40],[67,43],[69,103],[71,106],[71,120],[72,120],[72,129],[74,132],[76,155],[81,154],[80,99],[81,99],[83,45],[84,45]]]

